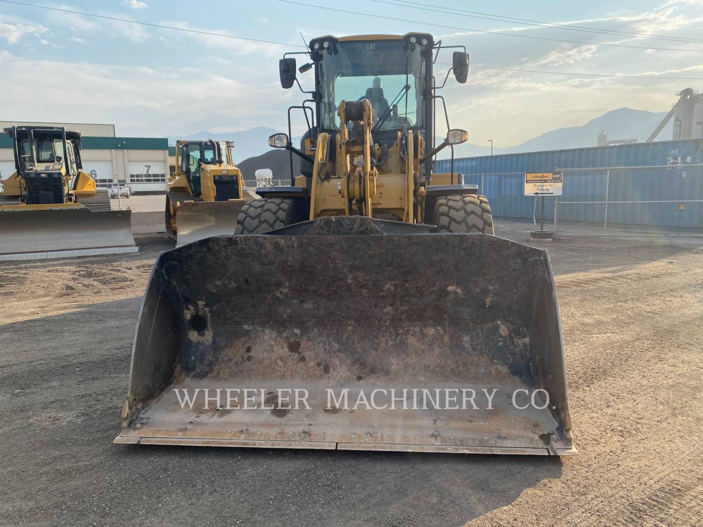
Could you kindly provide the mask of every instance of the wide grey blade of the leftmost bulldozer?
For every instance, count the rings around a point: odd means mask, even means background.
[[[129,210],[93,212],[79,204],[2,207],[0,261],[137,252],[130,221]]]

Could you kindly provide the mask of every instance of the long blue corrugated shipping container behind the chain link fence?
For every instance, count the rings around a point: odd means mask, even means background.
[[[703,199],[703,170],[688,167],[703,163],[703,140],[657,141],[633,145],[612,145],[572,150],[551,150],[454,160],[454,170],[464,174],[464,182],[479,186],[489,197],[494,216],[531,218],[535,198],[524,195],[526,172],[604,168],[663,167],[654,169],[614,169],[567,171],[560,202],[642,202]],[[439,160],[438,172],[448,172],[449,160]],[[553,218],[553,198],[547,198],[545,216]],[[599,223],[605,217],[605,204],[566,204],[560,207],[560,220]],[[671,203],[619,203],[608,208],[609,223],[663,227],[702,228],[703,204],[689,203],[680,209]]]

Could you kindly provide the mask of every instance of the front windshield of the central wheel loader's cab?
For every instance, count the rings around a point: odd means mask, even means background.
[[[323,53],[320,69],[322,127],[338,130],[342,100],[370,100],[382,129],[422,126],[421,85],[425,63],[420,48],[404,51],[402,40],[339,42]]]

